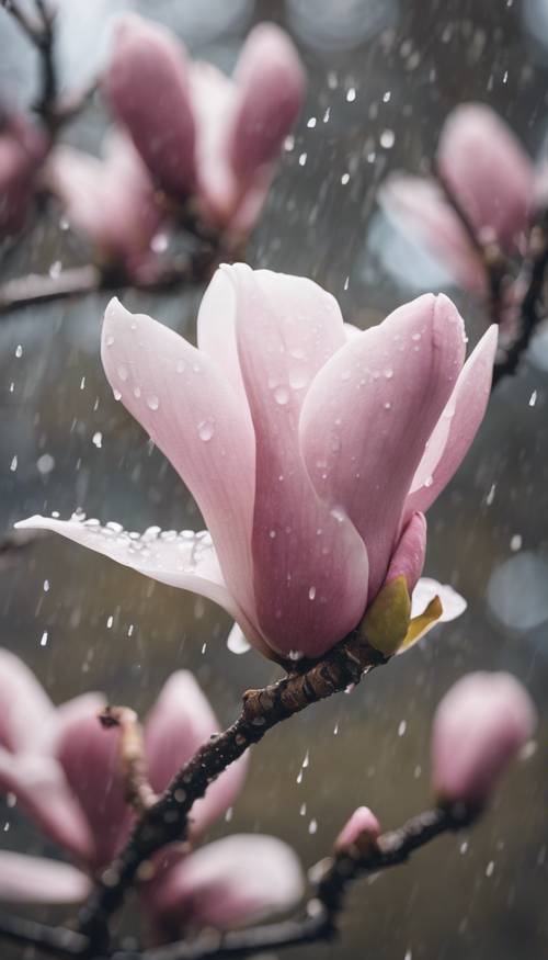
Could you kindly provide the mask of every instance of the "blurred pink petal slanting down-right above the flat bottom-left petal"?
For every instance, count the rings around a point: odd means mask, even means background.
[[[0,749],[0,790],[14,793],[56,843],[89,862],[93,849],[90,829],[56,760]]]

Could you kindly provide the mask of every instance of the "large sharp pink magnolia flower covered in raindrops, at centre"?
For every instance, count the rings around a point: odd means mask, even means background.
[[[482,419],[496,330],[463,366],[463,320],[425,295],[347,331],[309,280],[217,271],[198,348],[113,300],[102,358],[115,397],[190,487],[209,532],[141,538],[33,517],[161,583],[220,603],[272,657],[317,657],[386,579],[421,574],[426,523]]]

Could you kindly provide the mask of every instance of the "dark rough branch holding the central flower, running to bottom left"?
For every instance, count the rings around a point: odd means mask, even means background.
[[[137,823],[126,847],[103,873],[80,912],[81,931],[104,949],[109,918],[124,902],[139,866],[156,850],[184,838],[193,804],[219,773],[277,723],[310,703],[358,684],[365,673],[385,662],[378,651],[352,633],[304,673],[290,674],[262,690],[248,690],[238,720],[197,750]]]

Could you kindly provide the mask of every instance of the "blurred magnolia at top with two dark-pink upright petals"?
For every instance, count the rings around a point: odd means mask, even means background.
[[[189,63],[163,26],[124,14],[103,86],[169,196],[195,196],[214,226],[253,225],[304,97],[302,67],[282,30],[256,26],[229,80],[210,64]]]

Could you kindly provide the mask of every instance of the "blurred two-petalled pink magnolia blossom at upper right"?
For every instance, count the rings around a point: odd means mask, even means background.
[[[535,170],[517,138],[489,106],[454,110],[439,136],[435,171],[482,244],[512,253],[535,202]],[[434,179],[395,173],[380,191],[386,212],[424,245],[463,286],[486,293],[488,280],[470,236]]]

